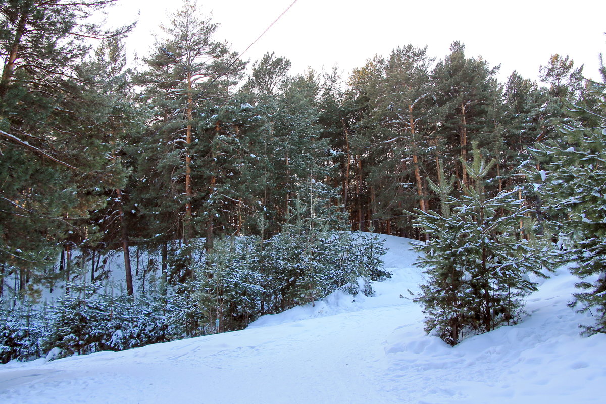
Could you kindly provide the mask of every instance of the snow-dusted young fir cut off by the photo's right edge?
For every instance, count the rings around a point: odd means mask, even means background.
[[[596,325],[585,331],[606,332],[606,68],[601,83],[587,82],[582,102],[566,104],[576,125],[562,125],[557,140],[537,145],[538,194],[548,220],[559,231],[564,257],[581,278],[572,306],[591,311]],[[593,309],[593,310],[592,310]]]

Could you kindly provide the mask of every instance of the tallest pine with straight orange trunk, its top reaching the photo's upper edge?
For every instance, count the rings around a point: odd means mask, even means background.
[[[149,68],[139,78],[145,87],[144,99],[155,113],[141,165],[150,173],[156,191],[145,196],[145,209],[158,215],[156,222],[162,224],[158,234],[177,236],[185,242],[195,234],[194,217],[204,217],[209,249],[213,218],[198,211],[195,204],[198,190],[212,192],[216,165],[208,150],[212,138],[205,138],[198,126],[204,118],[201,110],[222,104],[243,67],[225,44],[213,39],[216,28],[213,22],[199,18],[195,1],[185,0],[170,25],[163,28],[167,39],[156,44],[155,52],[146,59]],[[213,122],[213,127],[220,123]],[[196,143],[198,150],[193,151]],[[202,145],[207,148],[202,149]],[[204,182],[193,183],[195,170],[198,176],[200,170],[205,171]],[[158,192],[163,202],[158,200]]]

